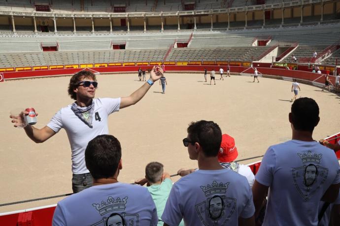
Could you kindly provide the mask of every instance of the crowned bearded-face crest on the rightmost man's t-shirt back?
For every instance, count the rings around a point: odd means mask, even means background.
[[[298,156],[303,165],[292,170],[294,185],[303,199],[307,201],[325,183],[328,169],[319,165],[322,154],[307,151],[298,153]]]

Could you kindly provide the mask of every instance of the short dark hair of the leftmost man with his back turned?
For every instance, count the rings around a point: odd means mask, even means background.
[[[112,135],[99,135],[86,147],[86,168],[95,179],[109,178],[117,171],[121,157],[122,149],[118,139]]]

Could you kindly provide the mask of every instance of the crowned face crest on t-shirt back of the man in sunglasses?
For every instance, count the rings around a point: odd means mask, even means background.
[[[236,199],[226,196],[228,183],[213,181],[201,186],[206,200],[195,205],[197,214],[205,226],[224,226],[233,215],[236,208]]]

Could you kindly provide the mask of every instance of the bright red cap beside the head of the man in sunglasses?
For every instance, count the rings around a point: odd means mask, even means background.
[[[233,137],[228,134],[222,135],[221,148],[217,156],[219,162],[232,162],[238,157],[238,149]]]

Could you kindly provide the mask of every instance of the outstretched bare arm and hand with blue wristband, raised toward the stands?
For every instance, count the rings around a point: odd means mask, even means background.
[[[157,72],[156,72],[157,70]],[[153,67],[150,71],[150,79],[152,84],[157,81],[161,76],[163,75],[163,70],[160,67]],[[137,89],[135,92],[133,92],[128,97],[122,97],[120,101],[119,108],[126,108],[131,105],[136,104],[140,99],[143,98],[143,96],[147,93],[147,91],[150,89],[151,85],[148,82],[145,82],[139,89]]]

